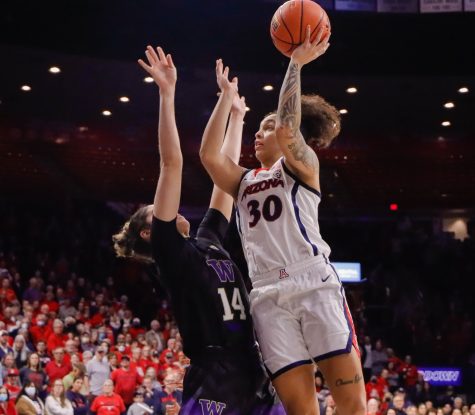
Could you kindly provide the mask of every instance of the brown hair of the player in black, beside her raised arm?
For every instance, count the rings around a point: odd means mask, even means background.
[[[133,258],[141,262],[151,263],[152,247],[140,236],[140,232],[150,227],[147,223],[148,206],[138,209],[124,223],[119,233],[112,236],[114,251],[118,257]]]

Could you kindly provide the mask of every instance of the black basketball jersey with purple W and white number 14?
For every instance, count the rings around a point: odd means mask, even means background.
[[[153,257],[170,295],[183,351],[192,360],[214,352],[255,353],[247,291],[222,247],[227,223],[218,210],[209,209],[197,237],[185,239],[176,220],[153,218]]]

